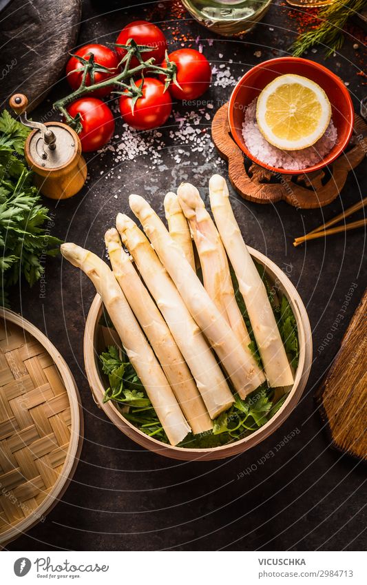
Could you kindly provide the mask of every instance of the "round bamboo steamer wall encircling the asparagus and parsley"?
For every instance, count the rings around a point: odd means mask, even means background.
[[[267,437],[271,435],[291,414],[297,402],[300,400],[308,374],[312,364],[312,334],[311,326],[308,320],[308,315],[300,295],[291,283],[291,280],[284,274],[284,272],[275,265],[269,258],[258,252],[257,250],[248,247],[251,256],[254,260],[264,266],[266,276],[269,278],[271,285],[275,286],[277,293],[282,296],[286,295],[291,305],[295,320],[297,322],[298,339],[300,342],[300,358],[298,362],[297,371],[295,372],[295,381],[292,387],[289,388],[289,396],[284,402],[282,408],[275,413],[273,418],[269,420],[263,427],[255,431],[248,437],[231,444],[223,445],[222,447],[215,447],[211,449],[185,449],[182,447],[173,447],[169,444],[164,444],[153,437],[148,437],[142,431],[139,431],[128,420],[123,417],[123,414],[118,411],[112,402],[103,404],[103,395],[105,393],[105,380],[98,367],[98,356],[101,351],[105,350],[107,345],[119,342],[114,339],[115,331],[107,329],[100,324],[101,316],[103,315],[103,304],[101,296],[98,294],[94,297],[85,323],[84,334],[84,361],[85,371],[87,373],[88,382],[92,389],[94,401],[107,414],[108,418],[112,420],[116,427],[123,431],[125,435],[140,444],[145,449],[165,455],[166,457],[184,460],[218,460],[238,455],[242,451],[247,451],[254,447]]]

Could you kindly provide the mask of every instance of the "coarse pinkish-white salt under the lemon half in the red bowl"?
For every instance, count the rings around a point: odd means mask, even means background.
[[[242,124],[242,136],[249,152],[262,163],[290,171],[300,171],[322,161],[337,142],[337,129],[333,120],[329,122],[324,135],[315,144],[302,150],[282,150],[270,144],[259,130],[256,122],[255,98],[247,107]]]

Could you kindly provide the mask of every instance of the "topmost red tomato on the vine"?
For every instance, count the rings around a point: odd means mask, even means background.
[[[154,57],[155,65],[162,63],[165,59],[165,52],[167,50],[167,41],[165,35],[160,28],[151,22],[145,20],[137,20],[125,26],[117,37],[116,43],[118,45],[126,45],[129,39],[134,39],[137,45],[146,45],[151,47],[151,51],[144,51],[141,53],[144,61]],[[116,47],[119,61],[125,57],[126,50]],[[132,58],[130,64],[136,67],[139,62],[135,57]]]

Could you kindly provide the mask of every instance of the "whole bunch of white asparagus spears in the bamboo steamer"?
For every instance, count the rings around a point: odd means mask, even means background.
[[[118,214],[117,229],[105,234],[112,270],[92,252],[74,244],[61,246],[63,256],[90,277],[101,295],[173,445],[190,431],[211,431],[213,419],[235,400],[230,386],[244,399],[265,380],[271,387],[293,383],[273,309],[233,216],[224,179],[214,175],[209,192],[216,225],[198,190],[185,183],[177,195],[165,197],[169,230],[145,199],[131,195],[130,207],[145,234],[131,218]],[[251,353],[227,255],[264,371]]]

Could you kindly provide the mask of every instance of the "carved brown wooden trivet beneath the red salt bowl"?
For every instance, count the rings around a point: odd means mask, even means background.
[[[357,167],[366,156],[367,125],[355,116],[355,145],[331,165],[331,172],[319,170],[300,174],[275,174],[255,163],[247,171],[244,153],[231,136],[228,123],[228,103],[222,105],[213,118],[211,135],[222,158],[228,161],[229,180],[244,199],[255,203],[286,201],[294,207],[313,209],[334,201],[344,187],[348,172]]]

